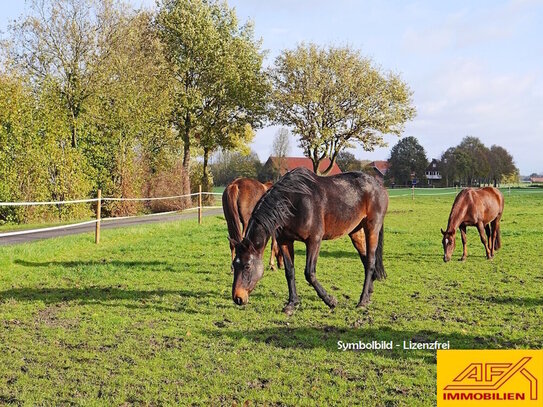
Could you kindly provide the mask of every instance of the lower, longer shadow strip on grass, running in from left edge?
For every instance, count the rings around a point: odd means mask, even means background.
[[[183,302],[183,299],[188,298],[217,298],[220,296],[218,292],[198,290],[125,290],[115,287],[12,288],[0,291],[0,303],[14,299],[17,301],[39,301],[44,304],[76,302],[78,305],[100,304],[134,309],[154,308],[165,311],[187,312],[184,308],[160,305],[161,301],[156,299],[156,297],[170,295],[182,297],[180,301],[174,300],[174,303]],[[182,304],[179,305],[182,306]]]

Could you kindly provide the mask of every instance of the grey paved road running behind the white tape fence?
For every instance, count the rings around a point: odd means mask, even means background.
[[[203,216],[216,216],[222,215],[221,208],[205,209]],[[147,223],[158,223],[158,222],[172,222],[184,219],[193,219],[198,216],[198,212],[189,212],[189,213],[172,213],[168,215],[161,216],[148,216],[142,218],[130,218],[130,219],[119,219],[119,220],[110,220],[107,222],[102,222],[101,229],[114,229],[127,226],[137,226]],[[7,236],[0,237],[0,246],[13,245],[18,243],[32,242],[35,240],[50,239],[52,237],[59,236],[68,236],[76,235],[79,233],[88,233],[94,232],[94,223],[88,225],[81,225],[72,228],[57,229],[46,232],[35,232],[28,235],[16,235],[16,236]]]

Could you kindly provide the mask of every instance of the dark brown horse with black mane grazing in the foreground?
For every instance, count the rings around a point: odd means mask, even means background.
[[[373,280],[386,277],[383,266],[383,219],[388,193],[375,178],[361,172],[319,177],[305,168],[283,176],[258,201],[245,238],[236,247],[233,262],[232,299],[246,304],[249,293],[262,278],[262,253],[276,235],[283,254],[290,314],[299,303],[294,279],[294,241],[306,246],[305,278],[330,308],[337,301],[316,278],[317,257],[323,240],[348,234],[365,269],[364,288],[358,306],[365,306],[373,292]]]

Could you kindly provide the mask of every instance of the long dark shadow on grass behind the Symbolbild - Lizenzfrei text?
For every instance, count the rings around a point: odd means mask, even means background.
[[[396,330],[385,326],[382,328],[336,328],[325,326],[312,327],[274,327],[251,331],[209,330],[205,333],[214,338],[228,337],[236,342],[246,339],[255,343],[263,343],[280,349],[318,349],[341,352],[338,341],[343,343],[364,343],[372,341],[393,342],[392,350],[363,350],[359,352],[378,353],[391,358],[429,357],[435,362],[435,350],[403,349],[404,341],[415,342],[450,342],[451,349],[510,349],[529,347],[531,343],[510,341],[499,336],[477,336],[461,333],[442,333],[430,330],[409,331]],[[398,345],[398,346],[397,346]]]

